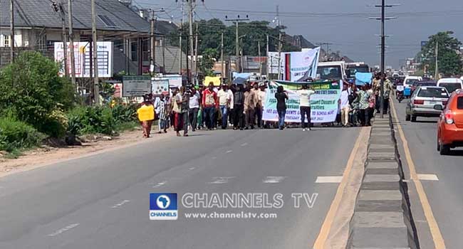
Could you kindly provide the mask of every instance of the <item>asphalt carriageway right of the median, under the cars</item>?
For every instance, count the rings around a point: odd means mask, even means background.
[[[397,115],[405,133],[410,148],[410,154],[415,162],[417,174],[431,174],[437,176],[438,181],[422,179],[422,185],[430,202],[432,212],[442,233],[447,248],[462,248],[463,245],[463,148],[452,150],[449,156],[441,156],[436,150],[437,117],[418,117],[417,122],[405,121],[405,103],[395,102]],[[397,134],[397,139],[400,138]],[[402,146],[400,146],[402,147]],[[405,174],[407,175],[407,161],[402,155]],[[408,175],[410,179],[410,175]],[[414,189],[411,188],[410,197],[413,199],[412,212],[419,228],[422,248],[434,248],[434,243],[427,231],[425,217],[422,216],[420,201]]]

